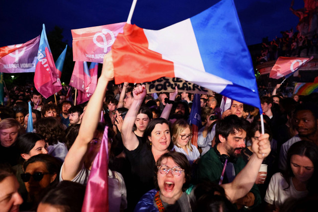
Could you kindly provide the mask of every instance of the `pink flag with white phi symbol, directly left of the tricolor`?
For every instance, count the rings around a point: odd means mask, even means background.
[[[73,60],[103,63],[118,33],[123,32],[125,22],[103,26],[72,29]]]

